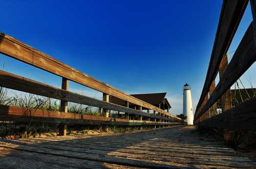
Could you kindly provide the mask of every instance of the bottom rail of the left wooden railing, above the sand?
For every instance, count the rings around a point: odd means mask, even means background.
[[[0,119],[17,122],[46,122],[58,124],[84,124],[84,125],[180,125],[180,122],[164,123],[152,121],[137,121],[125,119],[112,119],[100,116],[71,114],[67,112],[48,111],[40,109],[27,109],[15,106],[0,105]]]

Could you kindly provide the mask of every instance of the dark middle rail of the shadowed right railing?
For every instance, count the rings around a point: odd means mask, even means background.
[[[222,78],[220,79],[215,91],[212,93],[206,105],[198,114],[197,120],[204,112],[210,108],[225,93],[234,82],[256,61],[255,44],[253,37],[253,23],[248,27],[243,39],[241,40],[232,60],[228,64]]]

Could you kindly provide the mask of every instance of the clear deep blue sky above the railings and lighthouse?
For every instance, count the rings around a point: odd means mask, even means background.
[[[3,1],[0,30],[129,94],[167,92],[182,113],[182,86],[201,94],[222,1]],[[242,20],[230,50],[251,21]],[[0,55],[5,70],[60,87],[61,78]],[[50,76],[49,76],[50,75]],[[253,74],[254,75],[254,74]],[[71,83],[71,90],[100,97]]]

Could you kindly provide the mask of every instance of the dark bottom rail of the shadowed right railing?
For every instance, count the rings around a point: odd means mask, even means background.
[[[224,113],[197,123],[199,126],[256,130],[256,98],[252,98]]]

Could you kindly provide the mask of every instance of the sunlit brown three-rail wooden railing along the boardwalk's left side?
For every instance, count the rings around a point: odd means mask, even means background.
[[[20,77],[5,71],[0,71],[0,86],[22,92],[46,96],[61,100],[59,111],[39,109],[24,110],[24,108],[0,105],[0,120],[33,121],[67,124],[115,124],[115,125],[180,125],[182,120],[156,106],[121,92],[106,83],[100,82],[66,64],[63,64],[47,54],[42,53],[4,33],[0,34],[0,52],[11,58],[30,64],[42,70],[62,77],[62,89],[44,83]],[[69,90],[69,80],[103,93],[103,100],[72,93]],[[126,101],[126,107],[109,102],[109,97],[115,96]],[[104,117],[68,113],[68,102],[99,107],[103,109]],[[137,105],[137,110],[129,108],[129,103]],[[148,109],[142,111],[142,107]],[[109,118],[109,111],[125,112],[126,116],[136,115],[136,120]],[[153,110],[154,114],[150,114]],[[142,121],[146,117],[146,121]]]

